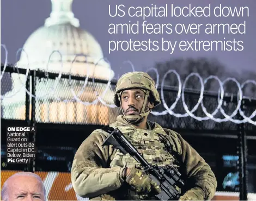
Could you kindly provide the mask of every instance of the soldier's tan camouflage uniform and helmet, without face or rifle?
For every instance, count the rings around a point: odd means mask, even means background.
[[[146,90],[145,93],[148,89],[155,99],[155,104],[161,103],[154,81],[149,79],[147,73],[136,73],[125,74],[130,84],[123,83],[121,89],[139,87]],[[131,79],[135,75],[136,78]],[[143,83],[149,80],[148,85],[143,87],[141,80]],[[120,85],[122,85],[122,77],[117,83],[117,86]],[[115,92],[118,94],[117,88]],[[120,106],[118,99],[119,97],[115,96],[115,104]],[[186,194],[182,199],[190,199],[190,197],[193,199],[196,196],[199,200],[209,200],[214,196],[217,186],[214,173],[180,134],[150,121],[147,121],[147,129],[136,129],[127,121],[125,115],[118,116],[117,121],[109,126],[118,128],[151,164],[177,165],[179,171],[185,175],[186,189],[180,191]],[[125,167],[140,169],[141,166],[129,154],[124,155],[112,146],[103,148],[102,143],[107,136],[108,133],[97,129],[78,148],[71,169],[72,185],[76,193],[92,200],[155,200],[156,198],[147,194],[141,196],[129,190],[121,174]],[[166,149],[167,145],[173,149],[173,153]]]

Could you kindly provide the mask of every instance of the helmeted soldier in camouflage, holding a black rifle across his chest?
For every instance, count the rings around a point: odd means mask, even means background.
[[[153,107],[161,103],[147,73],[124,74],[115,86],[114,103],[123,115],[109,127],[118,128],[149,163],[176,165],[184,174],[186,187],[180,190],[180,200],[214,197],[217,181],[204,159],[180,134],[147,120]],[[76,193],[92,200],[155,200],[160,187],[132,156],[112,146],[103,148],[107,136],[104,129],[97,129],[78,148],[71,169]]]

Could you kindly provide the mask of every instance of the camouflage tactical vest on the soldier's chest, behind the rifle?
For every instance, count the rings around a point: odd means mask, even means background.
[[[115,123],[109,125],[113,128],[118,128],[124,136],[130,141],[130,143],[142,154],[143,158],[147,160],[152,165],[173,165],[174,156],[168,152],[166,145],[161,142],[161,136],[169,137],[163,129],[135,129],[130,125],[117,125]],[[157,131],[157,133],[156,133]],[[169,139],[170,143],[172,140]],[[173,150],[176,152],[174,145],[172,146]],[[136,167],[142,169],[141,164],[139,164],[132,156],[128,153],[124,155],[117,150],[117,152],[111,158],[110,167]],[[138,196],[135,192],[128,190],[127,196],[131,200],[141,200],[141,199],[150,199],[145,197]],[[152,198],[155,199],[155,198]]]

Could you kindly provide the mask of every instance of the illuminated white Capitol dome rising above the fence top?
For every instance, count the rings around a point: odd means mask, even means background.
[[[108,80],[111,76],[112,79],[114,72],[103,59],[99,43],[80,28],[79,20],[74,17],[72,0],[51,1],[50,17],[28,37],[17,65],[27,68],[29,61],[31,70],[58,73],[62,69],[64,74],[71,70],[71,74],[82,77],[89,70],[89,77]]]

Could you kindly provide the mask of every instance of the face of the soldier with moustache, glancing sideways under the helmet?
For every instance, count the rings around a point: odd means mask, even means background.
[[[145,93],[140,89],[125,90],[121,93],[121,103],[125,115],[141,114]]]

